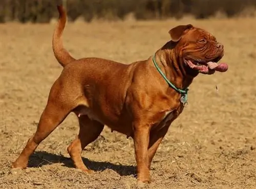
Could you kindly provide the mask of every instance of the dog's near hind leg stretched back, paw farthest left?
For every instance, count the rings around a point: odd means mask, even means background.
[[[42,112],[37,130],[29,138],[26,147],[12,163],[12,168],[26,168],[29,156],[35,151],[37,146],[44,140],[77,106],[69,93],[65,91],[63,83],[59,80],[53,84],[45,110]]]

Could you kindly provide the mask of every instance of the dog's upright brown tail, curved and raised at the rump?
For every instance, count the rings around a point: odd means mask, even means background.
[[[55,58],[57,61],[65,67],[69,62],[76,60],[73,58],[69,52],[63,47],[63,42],[61,39],[61,35],[63,33],[63,30],[66,25],[67,21],[67,13],[62,5],[57,6],[58,12],[59,12],[59,19],[57,22],[57,26],[53,33],[52,38],[52,49]]]

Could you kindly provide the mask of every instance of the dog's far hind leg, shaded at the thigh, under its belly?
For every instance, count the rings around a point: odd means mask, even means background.
[[[84,165],[81,153],[88,144],[92,143],[100,135],[104,125],[97,121],[90,120],[87,115],[81,115],[78,119],[80,127],[79,134],[68,147],[68,152],[77,169],[91,173],[92,171]]]

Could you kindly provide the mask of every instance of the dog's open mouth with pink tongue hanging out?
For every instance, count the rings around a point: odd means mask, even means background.
[[[198,70],[201,74],[214,74],[215,71],[226,72],[228,65],[226,63],[218,63],[222,57],[217,57],[211,61],[200,60],[196,58],[186,58],[184,60],[185,64],[191,69]]]

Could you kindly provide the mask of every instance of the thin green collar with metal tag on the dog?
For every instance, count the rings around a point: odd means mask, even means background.
[[[164,73],[162,72],[162,70],[160,69],[160,67],[158,66],[156,59],[155,59],[155,55],[153,56],[153,62],[158,70],[158,72],[161,74],[161,76],[163,77],[163,79],[168,83],[168,85],[170,87],[172,87],[173,89],[175,89],[177,92],[179,92],[181,94],[181,98],[180,98],[180,102],[183,104],[184,107],[187,107],[188,103],[187,103],[187,92],[188,92],[188,88],[186,88],[185,90],[181,90],[179,88],[177,88],[173,83],[171,83],[167,77],[164,75]]]

